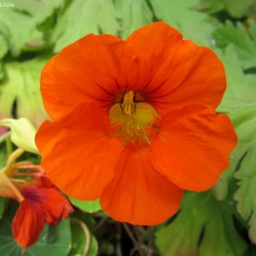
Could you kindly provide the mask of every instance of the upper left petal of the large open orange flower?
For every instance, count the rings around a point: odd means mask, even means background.
[[[119,38],[90,34],[67,46],[44,67],[41,92],[52,119],[78,102],[113,102],[118,90],[148,83],[149,62]]]

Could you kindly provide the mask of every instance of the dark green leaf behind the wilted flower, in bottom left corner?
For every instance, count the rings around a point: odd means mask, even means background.
[[[20,245],[15,242],[11,230],[11,217],[3,217],[0,221],[0,255],[20,256]],[[56,256],[67,255],[71,247],[69,219],[62,220],[56,226],[44,226],[38,242],[28,247],[24,256]]]

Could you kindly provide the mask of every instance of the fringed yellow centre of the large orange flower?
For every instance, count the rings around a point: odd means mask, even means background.
[[[146,102],[134,102],[132,90],[125,93],[122,103],[109,110],[109,119],[117,129],[116,135],[125,143],[150,143],[155,124],[160,119],[154,108]]]

